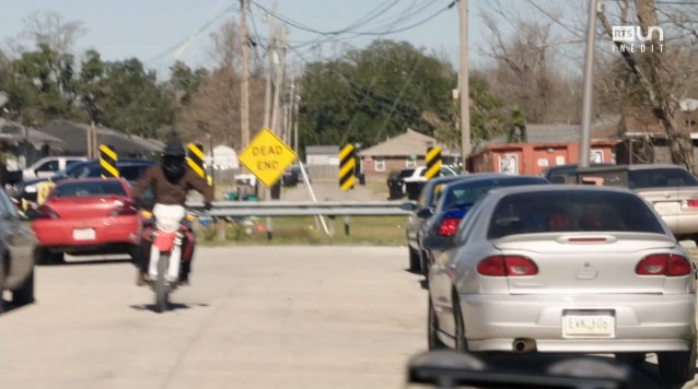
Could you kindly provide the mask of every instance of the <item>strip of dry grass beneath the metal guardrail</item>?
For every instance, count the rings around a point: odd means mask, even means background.
[[[226,223],[225,238],[220,239],[217,227],[201,227],[199,241],[207,246],[221,245],[405,245],[406,216],[354,216],[350,219],[350,235],[345,235],[344,216],[325,217],[328,236],[315,217],[274,217],[272,239],[267,239],[266,217]]]

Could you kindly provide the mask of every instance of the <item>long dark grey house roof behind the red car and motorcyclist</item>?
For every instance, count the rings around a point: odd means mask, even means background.
[[[65,141],[63,151],[67,154],[88,153],[88,130],[89,125],[68,120],[58,120],[42,128],[46,132]],[[118,153],[124,154],[147,154],[160,152],[164,144],[161,141],[130,135],[118,130],[106,127],[96,127],[97,141],[109,144]]]

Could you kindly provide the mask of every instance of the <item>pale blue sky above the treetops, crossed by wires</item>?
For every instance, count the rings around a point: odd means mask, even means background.
[[[274,0],[254,0],[271,10]],[[337,31],[351,25],[357,20],[375,11],[382,4],[394,7],[375,15],[361,32],[384,32],[391,30],[400,14],[412,11],[411,17],[403,20],[396,26],[409,25],[441,9],[451,0],[279,0],[278,13],[303,26],[317,31]],[[477,14],[481,0],[470,1],[470,36],[481,38],[482,25]],[[249,5],[257,33],[268,36],[269,24],[263,19],[264,11],[251,2]],[[22,21],[33,12],[57,12],[66,21],[81,21],[86,30],[77,43],[78,52],[97,49],[106,60],[119,60],[129,57],[141,59],[149,68],[159,73],[165,71],[174,61],[177,48],[182,48],[197,30],[206,26],[186,49],[179,59],[193,67],[209,67],[211,61],[210,33],[214,32],[225,19],[240,15],[237,0],[0,0],[0,43],[18,36],[23,28]],[[414,12],[419,11],[419,12]],[[217,19],[218,17],[218,19]],[[255,31],[252,28],[251,34]],[[318,34],[290,27],[289,42],[299,45],[319,37]],[[350,47],[363,47],[380,36],[341,35],[341,45],[325,45],[323,57],[333,56]],[[346,39],[350,37],[350,39]],[[385,35],[385,38],[407,40],[417,47],[435,50],[457,61],[458,14],[457,7],[441,13],[433,20],[398,34]],[[298,49],[307,59],[319,55],[317,49],[306,45]],[[477,57],[477,52],[472,50]],[[477,59],[477,58],[476,58]],[[296,59],[300,62],[300,59]]]

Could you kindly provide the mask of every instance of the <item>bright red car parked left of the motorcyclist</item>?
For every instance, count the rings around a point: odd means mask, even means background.
[[[63,262],[66,252],[138,252],[141,216],[123,179],[60,181],[33,219],[42,262]]]

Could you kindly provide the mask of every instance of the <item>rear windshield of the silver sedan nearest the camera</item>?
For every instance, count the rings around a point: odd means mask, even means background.
[[[637,196],[604,191],[536,191],[503,198],[488,237],[555,232],[664,234],[654,213]]]

